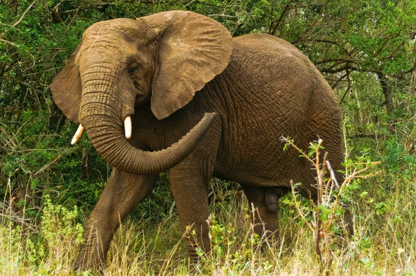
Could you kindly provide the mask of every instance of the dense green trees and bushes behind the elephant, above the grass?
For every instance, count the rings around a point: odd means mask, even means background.
[[[369,248],[377,233],[389,239],[386,227],[400,226],[410,231],[402,241],[411,242],[397,248],[415,249],[416,2],[412,0],[1,0],[3,221],[37,225],[46,198],[51,204],[77,206],[85,216],[94,208],[111,168],[86,136],[69,145],[77,126],[55,106],[49,84],[94,22],[164,10],[191,10],[220,21],[233,36],[269,33],[300,48],[338,96],[349,156],[381,161],[382,174],[357,181],[350,196],[356,220],[368,226],[363,237],[370,240]],[[238,189],[218,181],[214,186],[216,194]],[[293,211],[293,205],[285,202],[283,212]],[[395,213],[397,208],[403,212]],[[172,210],[173,199],[162,178],[131,217],[157,223]],[[375,217],[366,218],[363,214],[368,212]],[[401,225],[404,221],[410,224]]]

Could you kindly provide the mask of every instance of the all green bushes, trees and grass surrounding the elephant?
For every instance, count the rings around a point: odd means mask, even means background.
[[[415,1],[0,0],[1,275],[69,274],[110,175],[86,136],[69,145],[77,126],[53,103],[53,77],[94,22],[164,10],[199,12],[234,36],[277,35],[318,66],[344,111],[346,165],[380,161],[343,191],[355,234],[331,236],[330,273],[416,275]],[[262,252],[238,185],[215,179],[211,191],[213,250],[201,253],[197,275],[320,274],[308,201],[281,199],[281,245]],[[108,257],[105,275],[189,273],[166,178],[123,223]]]

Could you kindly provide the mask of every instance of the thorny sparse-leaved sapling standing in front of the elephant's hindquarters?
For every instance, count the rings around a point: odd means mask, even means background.
[[[297,194],[295,192],[297,185],[291,181],[291,188],[293,194],[293,200],[295,201],[295,207],[298,214],[306,224],[306,226],[313,233],[313,252],[318,260],[318,265],[322,275],[329,275],[331,271],[333,261],[333,245],[334,234],[338,232],[336,227],[336,221],[342,221],[343,206],[341,203],[342,196],[355,178],[367,178],[373,174],[363,175],[374,165],[379,165],[379,162],[367,162],[367,163],[346,163],[345,179],[343,183],[337,183],[335,174],[331,168],[329,161],[327,160],[327,152],[323,156],[321,161],[320,151],[323,149],[322,142],[320,139],[318,142],[310,143],[308,153],[305,153],[302,149],[297,147],[293,140],[289,138],[282,138],[286,145],[294,147],[302,157],[311,163],[312,167],[316,172],[316,190],[317,199],[316,201],[311,200],[311,209],[313,219],[306,218],[304,211],[301,208],[300,203],[297,201]]]

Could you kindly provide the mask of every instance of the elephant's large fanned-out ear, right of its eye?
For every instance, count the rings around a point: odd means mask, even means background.
[[[159,120],[190,102],[227,67],[231,35],[217,21],[193,12],[160,12],[137,19],[155,32],[159,59],[150,108]]]

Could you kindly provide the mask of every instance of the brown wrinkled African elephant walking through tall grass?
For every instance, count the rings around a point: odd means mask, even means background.
[[[307,149],[322,138],[336,171],[343,160],[340,109],[309,59],[265,34],[232,38],[193,12],[170,11],[93,24],[51,84],[64,114],[80,123],[114,167],[85,230],[76,269],[103,265],[113,234],[168,171],[184,239],[210,250],[208,184],[241,184],[258,209],[254,230],[279,235],[279,198],[290,181],[314,199],[314,172],[281,137]],[[342,176],[337,176],[338,178]],[[262,222],[263,224],[259,223]]]

